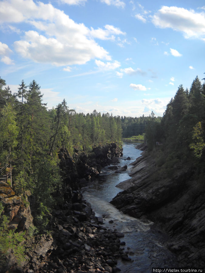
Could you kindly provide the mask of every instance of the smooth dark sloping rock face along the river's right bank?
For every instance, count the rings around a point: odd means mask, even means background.
[[[194,180],[192,166],[161,179],[154,175],[152,157],[139,157],[132,165],[131,178],[118,184],[124,191],[111,203],[126,214],[159,224],[171,236],[168,247],[182,266],[204,267],[205,189]]]

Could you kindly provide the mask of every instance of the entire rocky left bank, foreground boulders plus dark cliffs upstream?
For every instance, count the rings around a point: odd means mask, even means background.
[[[102,217],[96,217],[89,203],[83,199],[80,185],[93,174],[122,155],[115,143],[96,147],[90,156],[81,153],[76,162],[68,151],[60,150],[63,190],[56,193],[63,202],[56,205],[50,219],[50,232],[29,235],[32,222],[32,195],[27,192],[26,205],[22,196],[15,194],[15,184],[0,184],[4,214],[9,216],[9,229],[26,232],[26,256],[18,261],[10,249],[0,263],[3,272],[117,272],[117,260],[130,261],[124,251],[124,234],[103,227]]]

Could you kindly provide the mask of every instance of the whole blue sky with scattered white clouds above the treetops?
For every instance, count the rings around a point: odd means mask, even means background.
[[[48,109],[163,116],[205,72],[204,0],[0,1],[0,76]]]

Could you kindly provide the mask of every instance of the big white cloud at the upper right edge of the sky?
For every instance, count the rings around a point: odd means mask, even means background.
[[[160,28],[172,28],[183,32],[186,39],[201,39],[205,36],[205,14],[185,8],[167,7],[162,8],[152,17],[152,22]]]

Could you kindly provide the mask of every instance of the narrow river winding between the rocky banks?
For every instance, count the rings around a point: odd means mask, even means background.
[[[102,216],[104,227],[123,232],[125,237],[125,250],[132,259],[131,262],[118,260],[118,267],[123,273],[152,272],[152,267],[176,267],[176,257],[167,248],[169,238],[166,234],[156,228],[149,220],[139,220],[125,215],[117,210],[109,201],[118,194],[121,189],[115,187],[121,181],[129,179],[132,168],[129,165],[141,156],[141,152],[135,149],[137,143],[123,144],[123,157],[119,158],[121,167],[128,166],[126,172],[115,173],[108,167],[102,170],[97,178],[89,182],[82,190],[83,196],[91,204],[96,216]],[[131,160],[126,160],[127,157]],[[113,220],[113,223],[109,223]]]

